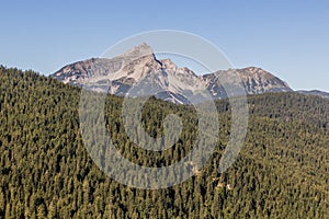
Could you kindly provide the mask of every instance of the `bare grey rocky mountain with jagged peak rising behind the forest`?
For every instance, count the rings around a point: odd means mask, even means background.
[[[156,93],[159,99],[186,104],[189,100],[204,99],[206,91],[211,94],[208,97],[227,97],[224,85],[230,85],[230,82],[219,79],[231,71],[240,77],[247,94],[292,91],[287,83],[256,67],[197,76],[186,67],[178,67],[170,59],[158,60],[147,44],[111,59],[92,58],[65,66],[50,77],[64,83],[115,95],[126,95],[138,84],[144,94]]]

